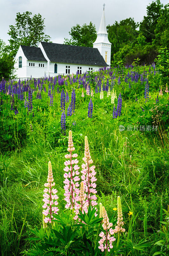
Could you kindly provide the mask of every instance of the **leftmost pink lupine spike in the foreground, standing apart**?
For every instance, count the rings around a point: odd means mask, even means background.
[[[57,199],[59,198],[56,193],[58,192],[56,189],[52,188],[55,183],[53,182],[53,173],[52,173],[52,164],[49,161],[48,163],[48,176],[47,176],[47,183],[44,184],[44,186],[46,187],[44,189],[44,194],[43,194],[43,202],[44,205],[43,207],[43,227],[46,228],[47,227],[47,223],[51,223],[53,218],[52,213],[56,213],[58,214],[58,207],[56,207],[56,205],[58,205],[58,201]],[[53,182],[53,183],[52,183]],[[55,201],[54,201],[55,200]]]

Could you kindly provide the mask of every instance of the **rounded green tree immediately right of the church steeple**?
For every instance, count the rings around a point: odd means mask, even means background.
[[[124,44],[132,44],[136,42],[138,31],[136,28],[138,23],[133,18],[121,20],[119,23],[115,21],[113,25],[107,26],[108,37],[111,45],[111,60],[113,55],[119,51]]]

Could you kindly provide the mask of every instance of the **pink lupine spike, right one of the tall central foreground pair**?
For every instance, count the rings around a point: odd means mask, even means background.
[[[85,164],[81,165],[81,168],[82,168],[81,173],[83,174],[81,176],[81,180],[83,180],[85,192],[87,193],[86,194],[87,199],[85,201],[85,204],[83,205],[83,210],[87,213],[89,205],[92,205],[92,206],[97,205],[97,202],[96,202],[97,197],[95,195],[97,193],[95,189],[96,188],[95,181],[97,180],[95,178],[95,175],[96,175],[95,165],[92,165],[91,167],[89,167],[89,165],[93,163],[93,160],[91,159],[91,156],[90,156],[87,136],[85,136],[85,152],[84,152],[83,161],[85,162]],[[97,216],[96,213],[95,213],[95,216]]]

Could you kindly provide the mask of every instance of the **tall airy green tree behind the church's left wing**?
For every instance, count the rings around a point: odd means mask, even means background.
[[[11,36],[7,47],[14,57],[20,44],[38,46],[40,41],[49,42],[50,36],[44,33],[44,19],[38,13],[32,16],[32,12],[17,12],[15,26],[10,25],[8,34]]]

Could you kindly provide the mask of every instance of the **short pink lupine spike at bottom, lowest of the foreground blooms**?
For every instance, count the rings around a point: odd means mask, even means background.
[[[112,243],[116,240],[116,238],[114,238],[114,236],[111,236],[111,235],[114,234],[114,230],[111,228],[113,226],[113,223],[109,222],[109,218],[108,218],[108,215],[107,215],[107,212],[106,212],[104,206],[102,206],[102,208],[100,210],[100,216],[99,217],[103,218],[102,227],[106,231],[106,234],[104,234],[103,231],[99,234],[101,239],[99,241],[98,248],[102,252],[104,252],[104,249],[106,249],[106,252],[107,251],[110,252],[110,249],[113,248]]]

